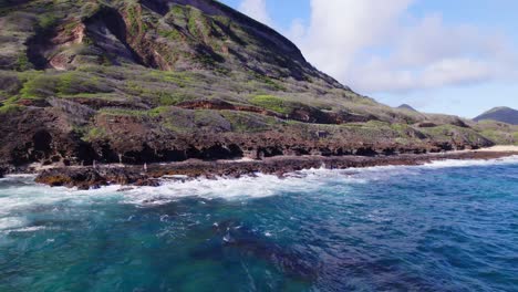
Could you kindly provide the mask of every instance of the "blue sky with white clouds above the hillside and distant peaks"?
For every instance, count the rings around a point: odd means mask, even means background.
[[[222,0],[361,94],[474,117],[518,108],[518,1]]]

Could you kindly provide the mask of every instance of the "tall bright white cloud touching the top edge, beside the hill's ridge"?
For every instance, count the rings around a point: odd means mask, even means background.
[[[344,79],[363,49],[382,43],[411,0],[311,0],[311,20],[301,45],[307,58],[324,72]],[[343,81],[343,80],[342,80]]]

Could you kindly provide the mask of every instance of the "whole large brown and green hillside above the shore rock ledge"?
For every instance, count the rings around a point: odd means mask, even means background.
[[[458,117],[352,92],[289,40],[217,1],[2,1],[0,27],[0,164],[493,144]]]

